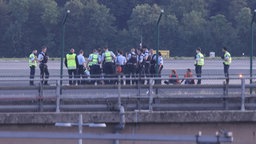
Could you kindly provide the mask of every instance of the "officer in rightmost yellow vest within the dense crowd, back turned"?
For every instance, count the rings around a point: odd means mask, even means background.
[[[106,78],[113,78],[115,74],[115,66],[114,60],[116,59],[116,55],[109,51],[107,47],[104,48],[104,53],[102,54],[103,60],[103,72],[106,74]],[[105,84],[113,84],[114,81],[106,80]]]

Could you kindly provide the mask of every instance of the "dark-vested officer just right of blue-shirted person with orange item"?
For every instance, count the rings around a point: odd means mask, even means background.
[[[131,49],[131,52],[127,55],[127,75],[134,78],[137,72],[138,55],[135,52],[135,48]],[[134,81],[135,82],[135,81]],[[126,81],[126,84],[131,84],[130,81]]]

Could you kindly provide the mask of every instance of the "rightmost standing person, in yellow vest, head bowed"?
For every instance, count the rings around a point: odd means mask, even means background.
[[[224,75],[226,78],[226,84],[229,84],[229,67],[232,62],[232,58],[226,47],[222,48],[222,52],[224,53],[221,57],[223,59]]]

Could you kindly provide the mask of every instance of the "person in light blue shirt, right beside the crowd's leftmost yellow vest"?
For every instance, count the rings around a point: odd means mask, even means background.
[[[79,55],[77,56],[77,61],[78,61],[78,71],[77,71],[77,78],[82,78],[82,80],[78,80],[77,81],[77,84],[80,85],[80,84],[85,84],[85,73],[84,73],[84,70],[86,68],[86,61],[85,61],[85,58],[84,58],[84,51],[83,50],[80,50],[79,51]]]

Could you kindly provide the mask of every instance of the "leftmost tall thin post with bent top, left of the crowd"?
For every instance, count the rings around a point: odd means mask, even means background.
[[[62,77],[63,77],[63,57],[64,57],[64,47],[65,47],[65,24],[67,21],[67,17],[70,13],[70,10],[66,11],[66,14],[62,20],[61,26],[62,26],[62,33],[61,33],[61,58],[60,58],[60,85],[62,85]]]

